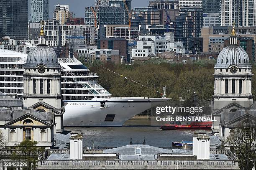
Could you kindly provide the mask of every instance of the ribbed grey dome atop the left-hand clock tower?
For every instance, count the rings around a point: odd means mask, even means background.
[[[37,46],[33,48],[27,57],[27,64],[58,64],[58,57],[53,49],[47,46]]]

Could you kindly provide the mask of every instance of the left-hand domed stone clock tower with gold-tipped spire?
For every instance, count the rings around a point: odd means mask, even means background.
[[[33,48],[24,64],[24,107],[38,102],[50,104],[61,110],[61,68],[53,49],[46,45],[41,29],[38,46]]]

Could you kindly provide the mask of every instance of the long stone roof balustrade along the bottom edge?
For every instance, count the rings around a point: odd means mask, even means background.
[[[122,161],[122,160],[38,160],[38,169],[51,169],[53,167],[65,166],[66,168],[78,169],[202,169],[202,170],[239,170],[238,161],[229,160],[187,160],[187,161]]]

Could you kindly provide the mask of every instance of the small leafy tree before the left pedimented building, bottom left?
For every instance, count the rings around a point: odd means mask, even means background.
[[[38,155],[40,155],[45,150],[43,147],[36,146],[37,144],[37,141],[23,140],[20,142],[20,144],[15,145],[15,152],[13,152],[12,159],[28,161],[28,169],[31,169],[32,163],[33,167],[35,167],[36,161],[38,160]]]

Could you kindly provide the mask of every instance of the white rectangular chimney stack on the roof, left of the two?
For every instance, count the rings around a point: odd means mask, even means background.
[[[72,131],[69,142],[69,159],[82,160],[83,159],[83,134],[80,130]]]

